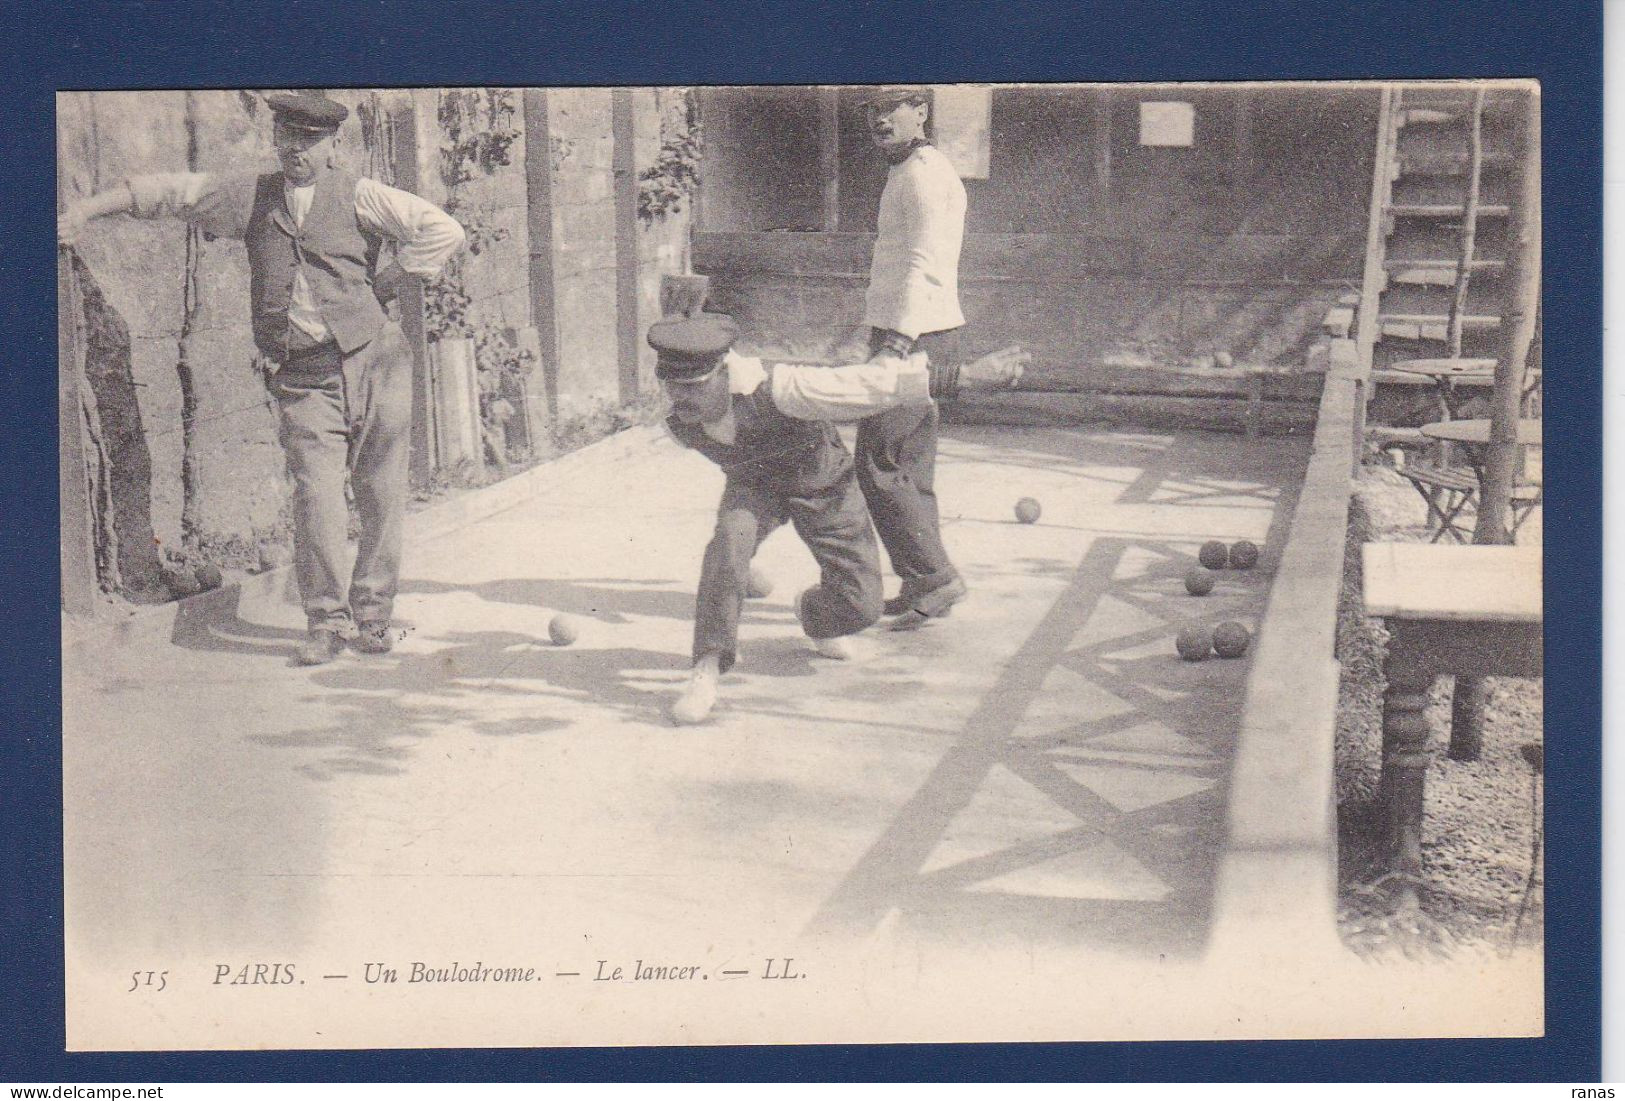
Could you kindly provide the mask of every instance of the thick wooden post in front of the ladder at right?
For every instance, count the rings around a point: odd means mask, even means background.
[[[1524,361],[1534,341],[1540,305],[1540,99],[1531,89],[1523,114],[1524,140],[1518,195],[1511,209],[1511,255],[1506,283],[1511,300],[1502,315],[1502,346],[1495,357],[1495,396],[1490,443],[1485,448],[1484,484],[1479,492],[1477,544],[1511,542],[1511,495],[1518,468],[1518,417],[1523,404]]]

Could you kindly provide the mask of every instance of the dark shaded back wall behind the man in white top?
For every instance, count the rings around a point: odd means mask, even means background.
[[[1116,369],[1225,352],[1297,364],[1358,286],[1375,148],[1370,89],[1003,88],[991,172],[965,180],[960,299],[970,351],[1022,344],[1034,380],[1089,388]],[[1141,99],[1196,107],[1191,148],[1142,148]],[[835,224],[819,227],[816,89],[704,97],[696,270],[767,354],[824,357],[861,326],[886,166],[840,94]],[[751,141],[720,140],[734,133]],[[720,135],[720,136],[718,136]]]

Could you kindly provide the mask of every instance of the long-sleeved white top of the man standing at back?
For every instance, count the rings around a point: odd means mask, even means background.
[[[965,240],[965,185],[936,146],[890,166],[876,226],[866,325],[904,336],[959,328],[959,252]]]

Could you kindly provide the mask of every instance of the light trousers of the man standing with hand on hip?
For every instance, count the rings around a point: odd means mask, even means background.
[[[388,622],[400,586],[411,458],[411,349],[400,323],[344,356],[323,344],[271,377],[294,482],[294,573],[306,622],[349,630]],[[346,568],[349,507],[361,546]]]

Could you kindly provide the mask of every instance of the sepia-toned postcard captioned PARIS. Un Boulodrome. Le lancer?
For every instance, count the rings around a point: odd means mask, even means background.
[[[1534,81],[55,104],[68,1051],[1544,1034]]]

